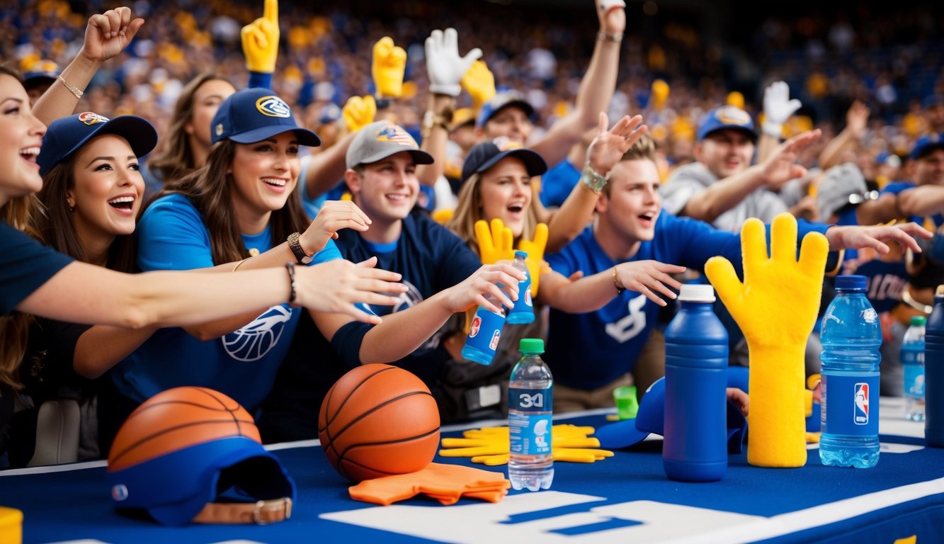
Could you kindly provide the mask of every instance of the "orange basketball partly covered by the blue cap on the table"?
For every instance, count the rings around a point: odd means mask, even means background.
[[[147,399],[127,417],[109,452],[109,471],[230,436],[261,443],[239,402],[206,387],[175,387]]]

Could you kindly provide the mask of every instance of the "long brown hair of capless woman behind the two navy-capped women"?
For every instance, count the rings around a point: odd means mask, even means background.
[[[166,144],[157,156],[147,161],[150,169],[158,172],[165,181],[184,176],[200,166],[194,163],[194,149],[190,145],[190,135],[187,134],[184,127],[190,122],[190,118],[194,116],[194,96],[196,92],[204,83],[217,80],[230,83],[224,76],[204,73],[191,79],[190,83],[187,83],[187,86],[180,92],[177,105],[174,106],[174,113],[171,115],[167,127]]]

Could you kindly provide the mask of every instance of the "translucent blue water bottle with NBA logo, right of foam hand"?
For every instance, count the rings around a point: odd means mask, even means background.
[[[874,467],[879,462],[879,316],[866,298],[865,276],[837,276],[835,289],[819,333],[819,460],[829,467]]]

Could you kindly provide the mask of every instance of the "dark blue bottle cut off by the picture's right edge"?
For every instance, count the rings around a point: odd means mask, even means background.
[[[924,328],[924,440],[944,448],[944,285]]]

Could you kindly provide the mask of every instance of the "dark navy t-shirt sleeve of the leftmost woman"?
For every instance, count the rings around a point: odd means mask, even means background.
[[[0,314],[12,312],[72,261],[0,220]]]

